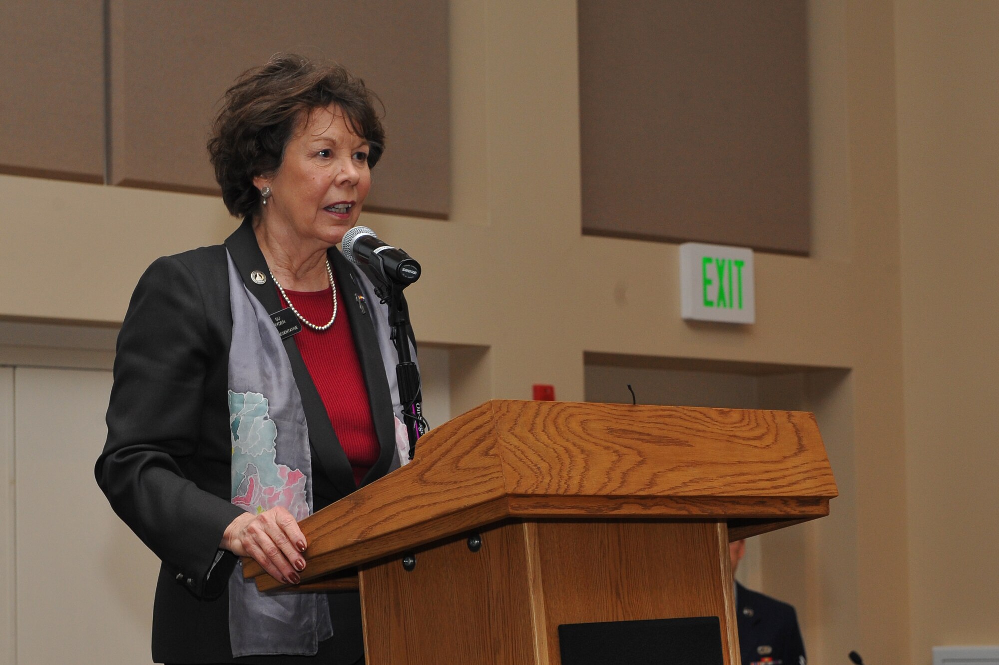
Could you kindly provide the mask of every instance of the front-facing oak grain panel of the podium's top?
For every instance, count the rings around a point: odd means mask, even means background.
[[[494,402],[506,489],[583,496],[836,494],[811,413]]]

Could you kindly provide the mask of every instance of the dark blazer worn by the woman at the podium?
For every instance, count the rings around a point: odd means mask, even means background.
[[[354,663],[363,654],[357,593],[330,594],[335,637],[316,657],[234,660],[229,645],[228,579],[236,557],[219,550],[242,509],[230,503],[228,369],[232,337],[226,249],[268,312],[281,309],[249,220],[225,246],[158,259],[132,296],[118,335],[108,438],[94,472],[115,512],[163,562],[153,612],[153,658],[167,663]],[[395,456],[393,400],[354,267],[329,253],[368,387],[378,461],[367,484]],[[309,426],[315,509],[357,487],[347,455],[293,337],[285,340]]]

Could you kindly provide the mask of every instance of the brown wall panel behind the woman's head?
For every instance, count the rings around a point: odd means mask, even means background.
[[[385,103],[368,207],[448,215],[447,0],[112,0],[111,23],[112,183],[216,192],[205,142],[219,99],[292,51],[343,63]]]

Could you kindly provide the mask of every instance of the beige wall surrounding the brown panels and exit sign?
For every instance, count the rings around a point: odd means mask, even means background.
[[[451,11],[452,219],[363,222],[425,267],[414,323],[453,348],[452,410],[532,382],[581,399],[584,351],[794,365],[757,397],[816,410],[841,496],[764,543],[761,579],[813,661],[999,641],[995,4],[809,2],[814,252],[757,255],[748,328],[679,319],[676,246],[580,235],[574,1]],[[0,316],[104,324],[152,259],[235,224],[209,197],[14,177],[0,215]]]

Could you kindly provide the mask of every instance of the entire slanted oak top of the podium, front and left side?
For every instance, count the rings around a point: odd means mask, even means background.
[[[302,578],[509,517],[738,518],[761,533],[827,514],[834,496],[811,413],[495,399],[303,520]],[[251,560],[244,573],[281,586]]]

